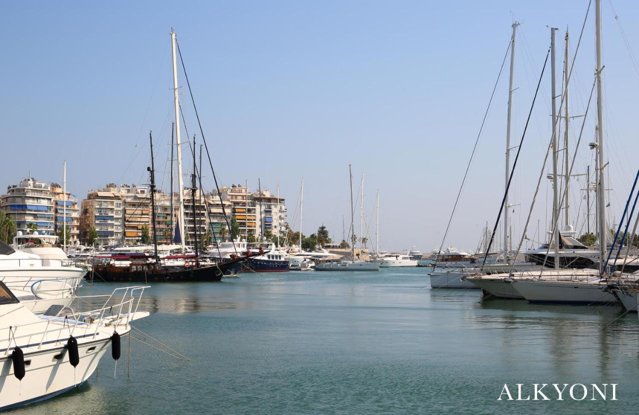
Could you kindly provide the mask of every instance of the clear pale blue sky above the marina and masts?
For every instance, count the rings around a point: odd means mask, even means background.
[[[633,25],[639,4],[602,4],[604,143],[614,223],[639,167],[632,156],[639,150],[639,27]],[[29,172],[61,181],[63,160],[67,188],[79,199],[107,183],[148,183],[152,130],[157,181],[167,190],[173,27],[220,186],[247,181],[256,189],[259,178],[275,193],[279,183],[297,230],[304,178],[304,233],[323,223],[341,239],[343,218],[346,232],[350,222],[350,164],[355,234],[361,234],[364,200],[364,235],[374,246],[379,191],[380,248],[415,245],[429,252],[443,241],[513,20],[521,22],[511,138],[516,147],[550,45],[549,27],[559,28],[560,94],[564,33],[568,27],[572,61],[588,1],[11,1],[0,7],[3,189]],[[594,81],[593,17],[594,5],[570,81],[571,116],[584,114]],[[444,245],[475,250],[486,223],[491,230],[495,225],[504,192],[508,68],[506,61]],[[179,83],[189,133],[183,130],[183,140],[196,135],[201,143],[181,69]],[[551,137],[550,86],[549,62],[509,193],[514,245]],[[593,98],[587,117],[571,119],[571,155],[584,123],[573,173],[585,173],[587,165],[594,171],[587,144],[594,140],[595,115]],[[183,155],[186,180],[189,147]],[[550,222],[548,172],[546,165],[529,244],[545,239]],[[206,163],[203,182],[207,191],[214,188]],[[571,222],[585,232],[582,188],[585,177],[573,177]]]

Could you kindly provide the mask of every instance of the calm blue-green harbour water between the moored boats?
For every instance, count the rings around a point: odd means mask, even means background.
[[[123,347],[115,377],[107,354],[81,388],[12,414],[636,413],[636,315],[479,300],[420,268],[156,284],[135,326],[189,362],[133,342],[130,377]],[[617,383],[619,400],[497,401],[517,382]]]

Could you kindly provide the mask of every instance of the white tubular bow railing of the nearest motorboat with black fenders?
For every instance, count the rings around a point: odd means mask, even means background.
[[[65,342],[68,336],[95,336],[98,333],[100,327],[112,327],[114,332],[118,326],[124,326],[125,329],[131,321],[132,315],[134,315],[140,305],[142,294],[144,289],[150,287],[150,285],[137,285],[133,287],[120,287],[114,289],[111,294],[102,294],[98,296],[86,296],[85,298],[104,298],[106,301],[101,308],[93,308],[88,311],[78,311],[68,313],[65,315],[52,315],[42,316],[40,321],[29,322],[26,324],[16,324],[11,326],[12,335],[9,339],[9,343],[4,349],[4,354],[9,354],[12,347],[27,344],[29,346],[38,345],[38,349],[42,348],[45,340],[49,337],[56,337],[54,342],[56,344]],[[119,298],[119,294],[122,294],[121,299],[117,303],[109,304],[113,298]],[[123,314],[123,311],[125,312]],[[45,317],[46,319],[43,319]],[[44,324],[46,321],[45,329],[37,333],[27,332],[24,335],[24,329],[33,327],[36,324]],[[22,329],[22,330],[21,330]],[[42,336],[40,336],[42,334]],[[57,336],[56,336],[57,334]],[[51,336],[49,336],[51,335]],[[39,341],[34,342],[36,336],[39,337]],[[47,340],[49,342],[50,340]]]

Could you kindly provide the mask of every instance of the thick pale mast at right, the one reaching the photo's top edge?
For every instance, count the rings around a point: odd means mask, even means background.
[[[597,188],[597,202],[599,203],[599,252],[601,252],[600,270],[603,272],[603,259],[606,255],[606,195],[604,180],[604,146],[603,146],[603,91],[601,91],[601,0],[595,0],[595,32],[597,49],[597,161],[599,162],[599,184]]]

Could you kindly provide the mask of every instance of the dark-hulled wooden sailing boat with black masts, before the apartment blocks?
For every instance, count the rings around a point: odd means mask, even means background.
[[[261,255],[260,252],[247,253],[245,256],[234,259],[222,260],[213,265],[204,265],[197,258],[197,229],[196,229],[196,257],[193,262],[185,262],[183,269],[175,267],[167,268],[162,266],[158,256],[157,232],[155,227],[155,162],[153,160],[153,137],[149,133],[151,144],[151,167],[147,167],[151,178],[151,223],[153,226],[153,257],[141,255],[130,258],[128,266],[117,266],[115,264],[96,264],[95,272],[104,278],[105,281],[130,281],[130,282],[219,282],[222,276],[236,273],[242,268],[242,264],[250,257]],[[194,153],[195,154],[195,153]],[[195,194],[196,178],[195,169],[193,174],[192,192]],[[196,223],[195,197],[192,197],[193,219]]]

